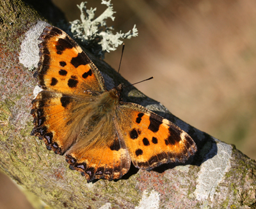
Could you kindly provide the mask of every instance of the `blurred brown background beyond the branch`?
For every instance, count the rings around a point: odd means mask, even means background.
[[[52,2],[68,21],[80,18],[76,4],[81,1]],[[108,26],[126,33],[136,24],[139,31],[138,37],[124,40],[120,73],[125,79],[154,76],[136,88],[181,120],[256,159],[256,1],[111,2],[116,19]],[[106,9],[100,3],[88,0],[87,6],[97,7],[99,16]],[[120,53],[121,47],[105,61],[117,69]]]

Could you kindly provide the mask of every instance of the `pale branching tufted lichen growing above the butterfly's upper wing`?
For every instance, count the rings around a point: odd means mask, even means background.
[[[115,20],[113,6],[111,0],[102,0],[102,4],[106,4],[108,8],[97,18],[95,18],[96,8],[86,8],[86,2],[82,2],[77,5],[81,11],[81,20],[74,20],[71,23],[71,32],[77,41],[81,42],[86,49],[89,49],[100,58],[104,58],[104,54],[111,50],[115,50],[118,45],[123,42],[121,38],[131,38],[138,36],[138,30],[136,25],[132,30],[127,33],[112,33],[113,27],[108,27],[106,24],[106,19],[111,18]]]

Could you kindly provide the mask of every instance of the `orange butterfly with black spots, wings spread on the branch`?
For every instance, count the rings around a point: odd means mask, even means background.
[[[87,182],[120,179],[132,164],[150,171],[186,162],[196,152],[191,137],[145,107],[122,102],[124,84],[107,90],[81,47],[57,27],[45,27],[34,77],[43,89],[32,101],[31,135],[64,155]]]

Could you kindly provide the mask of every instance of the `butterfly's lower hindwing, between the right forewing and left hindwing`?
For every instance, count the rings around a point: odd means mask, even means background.
[[[115,116],[104,115],[93,122],[88,120],[77,136],[77,142],[67,151],[71,169],[84,175],[88,182],[95,179],[114,180],[121,178],[130,168],[131,160],[120,138]]]

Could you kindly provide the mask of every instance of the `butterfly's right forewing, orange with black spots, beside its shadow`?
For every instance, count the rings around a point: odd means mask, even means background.
[[[197,148],[184,130],[138,104],[120,102],[118,124],[134,166],[153,169],[186,162]]]

